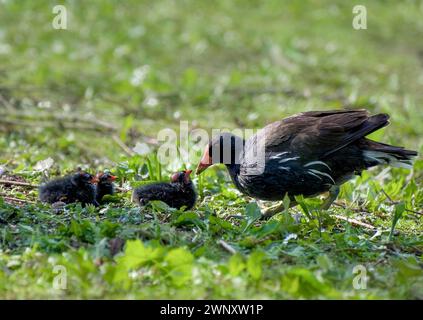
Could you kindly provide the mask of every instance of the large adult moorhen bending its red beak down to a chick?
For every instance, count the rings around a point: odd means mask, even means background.
[[[223,133],[206,146],[197,174],[224,163],[242,193],[260,200],[282,200],[287,193],[293,205],[295,195],[329,191],[322,206],[328,209],[339,186],[362,170],[379,164],[411,168],[416,151],[365,138],[388,119],[363,109],[311,111],[273,122],[247,141]]]

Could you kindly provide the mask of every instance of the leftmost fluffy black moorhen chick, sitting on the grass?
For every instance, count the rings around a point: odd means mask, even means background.
[[[97,178],[91,174],[80,171],[73,175],[58,178],[40,186],[39,198],[42,202],[73,203],[81,202],[83,205],[93,204],[98,206],[96,200],[95,183]]]

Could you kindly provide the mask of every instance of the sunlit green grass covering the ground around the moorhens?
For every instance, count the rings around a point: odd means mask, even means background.
[[[158,132],[180,120],[261,128],[342,106],[389,113],[373,138],[423,151],[419,1],[362,1],[361,31],[344,1],[63,3],[68,30],[51,27],[56,2],[0,3],[0,179],[39,184],[80,166],[128,189],[195,166],[194,141],[187,161],[156,157]],[[328,211],[306,199],[264,222],[222,169],[194,178],[188,212],[140,211],[129,192],[60,211],[0,185],[0,298],[423,298],[421,157],[346,183]],[[366,289],[353,286],[360,265]]]

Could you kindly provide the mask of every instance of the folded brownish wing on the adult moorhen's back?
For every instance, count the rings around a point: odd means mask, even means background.
[[[326,157],[386,126],[389,116],[366,110],[311,111],[274,122],[257,134],[265,136],[266,153],[291,152],[305,159]]]

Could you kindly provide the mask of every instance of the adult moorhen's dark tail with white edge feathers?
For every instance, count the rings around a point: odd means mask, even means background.
[[[364,139],[363,144],[363,155],[369,167],[378,164],[389,164],[393,167],[411,169],[413,167],[413,157],[417,156],[416,151],[369,139]]]

